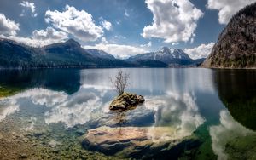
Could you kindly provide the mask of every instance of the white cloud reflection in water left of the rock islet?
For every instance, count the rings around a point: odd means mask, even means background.
[[[84,87],[85,88],[85,87]],[[65,123],[67,127],[86,123],[101,110],[102,98],[97,96],[96,89],[90,86],[90,92],[79,89],[76,94],[68,95],[49,89],[28,89],[0,100],[0,121],[7,115],[19,110],[20,100],[29,101],[34,105],[46,106],[45,123]],[[106,92],[104,92],[106,93]],[[102,94],[103,95],[103,94]],[[38,116],[38,115],[36,115]]]

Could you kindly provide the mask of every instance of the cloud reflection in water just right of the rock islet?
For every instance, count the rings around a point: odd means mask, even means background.
[[[145,107],[154,110],[154,125],[149,130],[148,136],[159,137],[156,129],[168,127],[158,140],[177,140],[189,136],[205,119],[201,117],[195,98],[189,94],[167,93],[162,96],[147,97]],[[164,128],[163,128],[164,129]]]

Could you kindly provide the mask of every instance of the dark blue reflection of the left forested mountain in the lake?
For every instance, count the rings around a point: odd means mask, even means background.
[[[80,88],[80,72],[73,69],[0,71],[0,88],[9,94],[37,87],[73,94]]]

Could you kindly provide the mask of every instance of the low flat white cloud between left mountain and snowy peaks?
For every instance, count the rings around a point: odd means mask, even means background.
[[[125,59],[131,55],[143,54],[148,52],[143,48],[138,48],[130,45],[120,45],[120,44],[106,44],[98,43],[94,46],[84,46],[84,49],[100,49],[104,50],[108,54],[113,54],[116,58]]]

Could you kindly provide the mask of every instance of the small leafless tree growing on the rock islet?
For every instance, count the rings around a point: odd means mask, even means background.
[[[113,81],[112,78],[111,83],[113,84],[113,88],[116,90],[116,92],[121,95],[124,93],[125,88],[129,85],[129,74],[124,73],[122,70],[119,70],[117,75],[115,76],[115,79]]]

